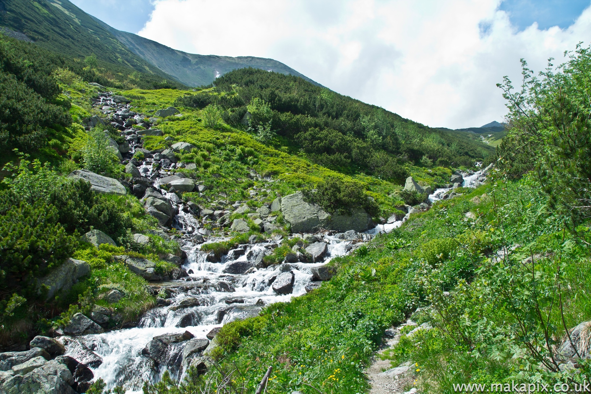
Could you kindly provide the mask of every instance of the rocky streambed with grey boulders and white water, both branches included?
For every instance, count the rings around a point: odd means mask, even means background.
[[[215,336],[223,324],[255,316],[265,305],[287,302],[293,296],[319,288],[334,274],[326,265],[333,257],[350,253],[376,234],[399,227],[418,209],[429,208],[427,204],[416,208],[403,206],[400,209],[404,210],[404,217],[392,215],[382,224],[374,225],[362,209],[352,215],[329,215],[319,206],[304,201],[301,193],[277,198],[272,204],[257,209],[250,208],[247,201],[228,201],[223,194],[209,201],[207,206],[183,201],[177,192],[203,193],[206,190],[206,185],[196,178],[177,172],[180,168],[195,166],[178,163],[175,155],[188,152],[193,146],[184,142],[172,143],[172,140],[171,148],[150,151],[142,145],[144,135],[163,134],[156,128],[160,117],[180,115],[178,110],[172,107],[161,109],[154,114],[155,117],[148,118],[131,111],[126,98],[111,93],[101,93],[95,106],[102,109],[106,120],[95,116],[87,118],[85,125],[90,128],[111,122],[121,131],[125,142],[118,144],[109,138],[109,143],[118,152],[126,172],[131,174],[131,182],[109,179],[86,170],[74,171],[70,176],[87,180],[101,193],[124,195],[126,188],[131,190],[160,223],[160,230],[152,230],[152,233],[176,240],[183,252],[181,256],[168,256],[178,268],[166,276],[156,273],[154,263],[149,260],[117,256],[129,269],[149,281],[149,290],[156,296],[157,307],[137,322],[105,332],[104,327],[115,317],[107,308],[96,306],[90,317],[74,315],[68,327],[56,332],[58,337],[43,337],[31,343],[28,353],[0,353],[0,370],[4,371],[0,372],[0,383],[4,384],[2,387],[6,392],[20,392],[26,385],[33,384],[54,385],[59,387],[56,393],[83,392],[87,382],[101,377],[108,389],[121,385],[128,393],[139,393],[145,380],[157,382],[165,371],[175,379],[181,379],[191,364],[198,369],[207,367],[207,355],[215,348]],[[133,127],[135,124],[144,128],[138,130]],[[137,155],[137,152],[141,154]],[[452,182],[449,188],[437,189],[433,193],[428,190],[431,193],[429,199],[437,201],[453,197],[454,188],[462,183],[475,186],[486,172],[488,169],[455,175],[452,181],[457,182]],[[260,195],[270,191],[274,180],[264,179],[254,171],[250,176],[262,183],[262,186],[249,190],[251,200],[262,201]],[[407,180],[407,188],[426,191],[412,178]],[[290,222],[294,234],[285,238],[270,235],[266,240],[252,236],[248,242],[222,254],[202,250],[206,244],[227,240],[230,231],[249,230],[245,220],[230,220],[232,213],[248,215],[261,231],[272,234],[280,228],[279,211]],[[169,231],[171,228],[174,228],[173,232]],[[211,228],[218,229],[217,235],[212,235]],[[319,228],[331,230],[318,231]],[[96,245],[115,244],[106,234],[96,230],[85,237]],[[134,234],[134,239],[138,243],[148,241],[147,234]],[[287,239],[294,244],[292,252],[280,264],[267,266],[264,257]],[[72,260],[72,264],[64,267],[72,266],[76,273],[83,274],[87,269],[84,264]],[[55,281],[47,279],[43,283],[51,287]],[[116,302],[123,295],[113,289],[106,296]],[[78,369],[83,373],[77,372]],[[77,378],[79,375],[83,377]]]

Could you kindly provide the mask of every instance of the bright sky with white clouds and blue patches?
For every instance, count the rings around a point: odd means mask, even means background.
[[[327,88],[431,127],[503,121],[496,83],[519,59],[591,43],[591,0],[72,0],[174,49],[278,60]]]

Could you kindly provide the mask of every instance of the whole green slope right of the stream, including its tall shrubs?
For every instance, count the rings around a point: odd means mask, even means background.
[[[590,49],[578,47],[539,79],[524,68],[520,91],[505,80],[508,137],[488,185],[333,260],[339,273],[320,289],[225,325],[209,376],[193,370],[181,386],[165,378],[145,392],[212,392],[212,376],[217,389],[254,390],[271,366],[268,393],[361,393],[384,330],[407,318],[427,328],[402,329],[382,354],[410,367],[405,390],[582,391],[591,378],[590,70]],[[231,376],[223,386],[222,374]]]

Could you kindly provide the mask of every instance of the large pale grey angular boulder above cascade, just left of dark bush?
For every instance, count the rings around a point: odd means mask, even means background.
[[[330,221],[330,215],[319,206],[304,201],[301,192],[281,198],[281,212],[285,220],[290,222],[292,232],[311,232],[326,227]]]

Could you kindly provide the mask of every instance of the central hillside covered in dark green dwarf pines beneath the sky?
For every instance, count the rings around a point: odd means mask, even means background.
[[[294,76],[241,69],[215,85],[181,96],[176,105],[216,108],[226,124],[249,130],[259,141],[343,173],[400,183],[411,168],[471,167],[493,152],[478,140],[425,127]]]

